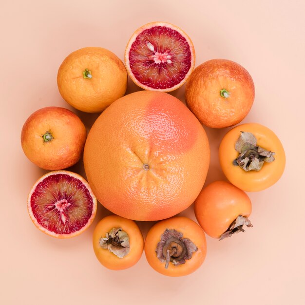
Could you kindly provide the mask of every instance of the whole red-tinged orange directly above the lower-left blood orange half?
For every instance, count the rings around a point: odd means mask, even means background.
[[[31,114],[21,131],[25,155],[45,170],[62,170],[82,157],[86,128],[72,111],[45,107]]]

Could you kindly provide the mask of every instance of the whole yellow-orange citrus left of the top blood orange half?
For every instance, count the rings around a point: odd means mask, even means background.
[[[74,108],[102,112],[125,94],[127,72],[111,51],[86,47],[65,58],[58,70],[57,85],[60,95]]]

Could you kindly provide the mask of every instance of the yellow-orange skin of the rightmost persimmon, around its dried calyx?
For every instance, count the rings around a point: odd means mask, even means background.
[[[257,139],[257,145],[275,152],[275,160],[265,162],[258,172],[245,172],[233,161],[237,158],[235,143],[241,132],[253,133]],[[286,157],[281,141],[267,127],[257,123],[247,123],[234,127],[222,139],[219,147],[219,161],[227,179],[243,191],[262,191],[276,183],[282,176]]]

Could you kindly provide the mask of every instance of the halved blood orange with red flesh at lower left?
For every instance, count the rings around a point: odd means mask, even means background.
[[[49,172],[30,191],[28,212],[42,232],[57,238],[74,237],[93,222],[96,198],[82,176],[68,171]]]

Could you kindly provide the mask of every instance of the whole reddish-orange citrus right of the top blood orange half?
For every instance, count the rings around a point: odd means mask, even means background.
[[[254,83],[248,71],[227,59],[212,59],[198,66],[186,86],[187,106],[198,120],[224,128],[243,120],[254,101]]]

